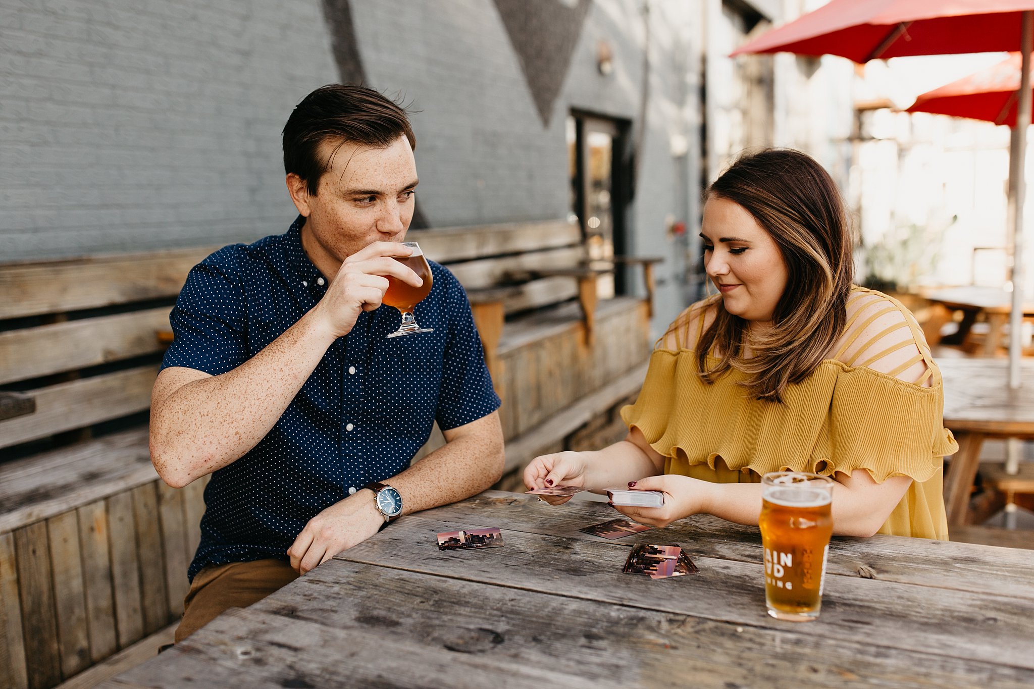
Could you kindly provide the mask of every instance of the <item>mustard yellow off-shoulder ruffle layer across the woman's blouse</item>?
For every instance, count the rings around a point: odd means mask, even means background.
[[[827,359],[785,404],[747,396],[730,372],[712,384],[697,375],[696,353],[656,350],[636,403],[621,409],[630,428],[668,458],[667,473],[718,461],[732,470],[814,471],[831,475],[868,470],[931,478],[957,444],[943,427],[940,376],[931,387],[866,368]]]

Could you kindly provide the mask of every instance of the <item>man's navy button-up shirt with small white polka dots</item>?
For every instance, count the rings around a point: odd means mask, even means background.
[[[220,249],[190,271],[162,368],[231,371],[316,305],[328,280],[302,250],[304,222]],[[448,269],[429,262],[434,284],[415,315],[433,333],[389,340],[398,310],[362,313],[269,434],[212,474],[191,581],[207,565],[286,560],[321,510],[408,467],[435,420],[445,431],[498,408],[466,294]]]

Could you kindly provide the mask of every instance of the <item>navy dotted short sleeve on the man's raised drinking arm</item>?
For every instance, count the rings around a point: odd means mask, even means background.
[[[247,361],[247,305],[234,270],[238,250],[225,247],[191,269],[169,316],[174,338],[162,369],[179,366],[215,376]]]

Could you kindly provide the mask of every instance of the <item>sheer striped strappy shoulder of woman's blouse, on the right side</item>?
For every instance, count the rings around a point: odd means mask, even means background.
[[[847,311],[847,326],[834,359],[922,387],[934,384],[936,368],[922,330],[898,300],[855,287]]]

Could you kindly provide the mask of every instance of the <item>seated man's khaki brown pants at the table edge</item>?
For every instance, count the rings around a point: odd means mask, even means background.
[[[247,607],[298,578],[285,560],[255,560],[202,569],[183,599],[176,643],[194,633],[229,607]]]

